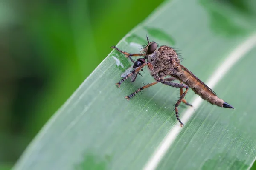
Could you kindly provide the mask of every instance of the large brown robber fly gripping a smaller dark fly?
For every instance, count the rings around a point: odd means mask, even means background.
[[[198,79],[195,74],[193,74],[186,67],[181,65],[180,59],[177,56],[176,51],[169,46],[163,45],[158,48],[158,44],[154,41],[149,42],[149,39],[147,37],[147,45],[142,48],[140,54],[127,53],[125,51],[119,50],[116,47],[111,48],[115,48],[119,52],[125,54],[130,59],[132,56],[144,56],[143,59],[145,60],[145,62],[143,62],[139,67],[134,68],[131,74],[137,74],[144,66],[147,65],[150,70],[151,76],[155,79],[155,82],[152,82],[137,89],[137,91],[134,91],[134,93],[130,94],[129,96],[125,96],[127,100],[129,100],[139,91],[155,85],[159,82],[164,85],[180,88],[180,98],[175,104],[175,114],[177,120],[180,122],[181,127],[183,126],[183,123],[181,122],[179,117],[178,106],[181,102],[185,103],[186,105],[192,106],[184,99],[189,88],[191,88],[195,92],[195,94],[198,94],[202,99],[206,100],[212,105],[217,105],[223,108],[233,108],[233,106],[231,106],[227,102],[224,102],[223,99],[218,98],[217,94],[206,84],[204,84],[204,82]],[[169,77],[166,78],[167,76]],[[174,80],[179,80],[180,83],[172,82]],[[121,83],[120,82],[116,83],[117,85],[119,85],[119,87],[123,81]],[[184,92],[183,88],[186,89]]]

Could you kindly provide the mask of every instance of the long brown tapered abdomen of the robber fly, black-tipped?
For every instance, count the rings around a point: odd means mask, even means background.
[[[224,102],[224,100],[218,98],[216,94],[214,94],[211,90],[209,90],[203,83],[198,81],[189,72],[185,70],[181,70],[180,68],[173,71],[173,74],[171,76],[175,77],[176,79],[180,80],[184,84],[188,85],[189,88],[191,88],[195,92],[195,94],[198,94],[199,96],[201,96],[202,99],[207,100],[213,105],[225,107],[226,102]]]

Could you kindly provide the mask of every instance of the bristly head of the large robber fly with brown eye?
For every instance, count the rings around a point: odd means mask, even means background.
[[[159,52],[157,50],[158,44],[154,41],[149,42],[149,39],[147,37],[148,44],[144,46],[142,49],[142,52],[146,54],[146,59],[148,59],[149,62],[155,60],[159,56]]]

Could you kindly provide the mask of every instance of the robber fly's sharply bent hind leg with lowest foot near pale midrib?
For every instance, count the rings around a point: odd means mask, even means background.
[[[177,103],[175,104],[175,114],[176,114],[176,118],[177,120],[180,122],[180,127],[182,127],[184,124],[181,122],[180,120],[180,116],[179,116],[179,110],[178,110],[178,106],[180,105],[180,102],[184,99],[186,93],[189,90],[189,86],[184,85],[184,84],[180,84],[180,83],[175,83],[175,82],[166,82],[164,80],[161,81],[161,83],[165,84],[165,85],[169,85],[175,88],[186,88],[186,91],[180,95],[180,99],[177,101]]]

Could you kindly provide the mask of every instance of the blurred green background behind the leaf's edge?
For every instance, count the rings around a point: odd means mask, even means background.
[[[109,47],[162,2],[0,0],[0,169],[12,167]],[[249,1],[218,2],[253,11]]]

